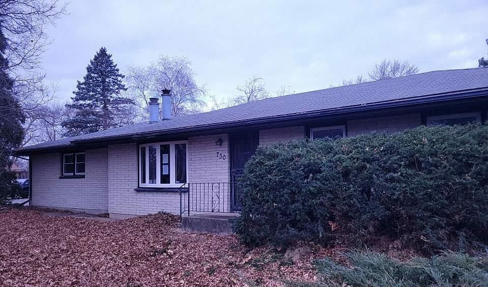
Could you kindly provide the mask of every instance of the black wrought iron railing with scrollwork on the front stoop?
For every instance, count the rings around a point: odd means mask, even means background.
[[[179,188],[179,212],[239,212],[241,183],[186,183]]]

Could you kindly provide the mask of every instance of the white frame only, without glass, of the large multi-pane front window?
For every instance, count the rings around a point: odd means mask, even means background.
[[[187,183],[188,183],[188,141],[187,140],[178,140],[178,141],[162,141],[162,142],[151,142],[145,143],[144,145],[139,145],[139,163],[138,163],[138,170],[139,170],[139,187],[180,187],[184,183],[176,183],[176,158],[175,158],[175,145],[179,143],[185,143],[187,146],[187,154],[186,154],[186,170],[187,170]],[[169,145],[169,183],[159,183],[161,182],[161,147],[160,145]],[[149,182],[149,146],[157,146],[156,148],[156,182],[157,183],[148,183]],[[142,157],[141,157],[141,148],[145,147],[145,182],[142,183]]]

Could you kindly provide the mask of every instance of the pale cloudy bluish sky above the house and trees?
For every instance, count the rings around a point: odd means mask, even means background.
[[[488,55],[488,2],[72,0],[49,27],[43,67],[69,100],[104,46],[122,73],[160,55],[186,56],[208,95],[233,97],[246,79],[290,93],[367,76],[382,59],[419,72],[477,67]]]

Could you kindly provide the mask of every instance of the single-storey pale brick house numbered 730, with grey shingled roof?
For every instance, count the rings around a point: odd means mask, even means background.
[[[32,205],[125,218],[239,210],[239,176],[257,146],[486,122],[488,69],[433,71],[149,122],[17,150],[31,159]]]

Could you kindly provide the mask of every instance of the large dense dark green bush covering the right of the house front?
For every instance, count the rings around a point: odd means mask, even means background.
[[[242,179],[242,242],[370,244],[425,252],[488,243],[488,127],[419,127],[260,147]]]

